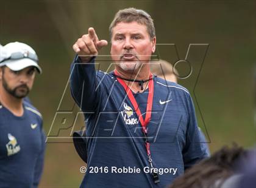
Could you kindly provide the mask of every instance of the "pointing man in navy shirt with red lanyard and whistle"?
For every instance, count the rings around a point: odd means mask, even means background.
[[[109,29],[113,72],[94,68],[107,41],[93,28],[73,45],[71,94],[87,122],[81,187],[165,187],[207,156],[190,93],[150,72],[156,37],[148,13],[119,10]]]

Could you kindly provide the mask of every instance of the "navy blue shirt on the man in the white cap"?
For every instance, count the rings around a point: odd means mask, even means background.
[[[37,187],[43,170],[45,135],[41,114],[23,102],[23,116],[0,104],[0,187]]]

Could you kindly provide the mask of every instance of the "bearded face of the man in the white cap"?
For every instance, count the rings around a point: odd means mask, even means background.
[[[26,67],[13,71],[8,67],[1,70],[0,83],[2,87],[15,98],[24,98],[32,89],[35,79],[35,67]]]

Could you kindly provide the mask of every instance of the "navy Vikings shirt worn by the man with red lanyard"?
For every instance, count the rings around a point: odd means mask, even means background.
[[[96,71],[94,59],[87,64],[79,64],[79,60],[76,57],[71,65],[71,94],[87,122],[88,167],[81,187],[165,187],[207,157],[188,90],[154,78],[148,124],[152,163],[160,177],[160,183],[154,184],[141,124],[123,86],[113,72]],[[147,90],[135,98],[145,113]]]

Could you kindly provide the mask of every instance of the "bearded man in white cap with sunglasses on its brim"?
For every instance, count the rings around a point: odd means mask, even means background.
[[[0,49],[0,187],[37,187],[43,170],[43,119],[30,102],[35,72],[41,73],[35,51],[11,42]]]

